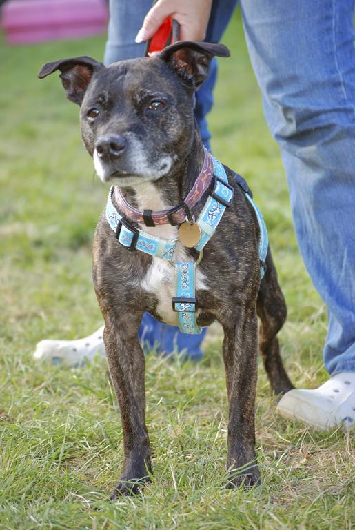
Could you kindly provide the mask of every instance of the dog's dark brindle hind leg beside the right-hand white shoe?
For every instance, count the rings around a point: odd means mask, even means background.
[[[267,252],[267,271],[261,280],[257,300],[257,313],[260,318],[259,350],[272,391],[283,395],[294,388],[285,372],[280,355],[277,333],[282,328],[287,315],[285,299],[278,285],[276,268],[272,255]]]

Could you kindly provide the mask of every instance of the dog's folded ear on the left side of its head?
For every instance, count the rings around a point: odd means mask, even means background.
[[[72,57],[46,63],[39,72],[39,79],[43,79],[56,70],[61,71],[61,82],[65,88],[66,96],[70,101],[81,105],[85,91],[97,70],[105,68],[102,63],[91,57]]]

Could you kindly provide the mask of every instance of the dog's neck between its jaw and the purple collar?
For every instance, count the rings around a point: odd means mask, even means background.
[[[199,175],[205,158],[203,144],[196,130],[190,154],[177,169],[156,181],[139,186],[121,188],[125,200],[139,210],[168,210],[180,204]]]

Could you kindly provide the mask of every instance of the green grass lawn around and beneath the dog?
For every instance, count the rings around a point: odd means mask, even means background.
[[[270,137],[239,17],[224,39],[210,117],[214,153],[244,175],[270,230],[289,317],[283,357],[297,386],[327,375],[325,307],[298,255],[278,147]],[[78,108],[45,61],[103,55],[103,38],[10,48],[1,43],[0,92],[0,529],[350,529],[351,438],[314,433],[275,415],[260,367],[256,451],[263,486],[221,488],[227,406],[221,338],[199,364],[147,359],[152,484],[108,501],[123,458],[105,361],[78,370],[37,366],[43,337],[85,335],[101,324],[91,242],[107,189],[94,177]]]

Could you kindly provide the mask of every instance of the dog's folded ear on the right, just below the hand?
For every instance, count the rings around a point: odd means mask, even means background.
[[[177,41],[164,48],[159,57],[193,88],[205,81],[212,57],[230,57],[223,44],[209,42]]]

